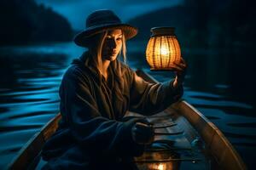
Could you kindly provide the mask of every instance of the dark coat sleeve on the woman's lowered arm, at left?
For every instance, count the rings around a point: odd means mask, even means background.
[[[90,79],[79,71],[69,71],[62,80],[61,114],[70,127],[73,138],[91,156],[137,156],[143,145],[131,138],[136,120],[117,122],[103,117],[90,91]]]

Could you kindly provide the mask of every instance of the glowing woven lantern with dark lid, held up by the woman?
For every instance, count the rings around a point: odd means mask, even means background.
[[[179,62],[181,51],[174,27],[151,28],[146,59],[151,71],[172,71],[173,62]]]

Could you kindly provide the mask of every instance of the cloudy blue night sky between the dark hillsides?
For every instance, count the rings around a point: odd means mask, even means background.
[[[130,20],[159,8],[171,7],[183,0],[36,0],[69,20],[74,30],[84,29],[84,20],[92,11],[102,8],[112,9],[121,20]]]

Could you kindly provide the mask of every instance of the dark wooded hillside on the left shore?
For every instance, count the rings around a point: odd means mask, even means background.
[[[0,11],[0,45],[72,39],[67,19],[34,0],[1,0]]]

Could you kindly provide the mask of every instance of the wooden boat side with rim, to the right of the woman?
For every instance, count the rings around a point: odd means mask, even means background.
[[[204,116],[200,111],[196,110],[195,107],[189,105],[185,100],[179,101],[176,104],[171,106],[172,109],[178,111],[182,116],[189,121],[189,123],[195,127],[195,130],[201,135],[201,138],[205,141],[207,149],[210,150],[212,156],[218,161],[218,164],[223,169],[230,169],[230,163],[232,162],[232,169],[247,169],[245,163],[242,161],[241,156],[238,154],[234,146],[230,141],[224,136],[214,123],[212,123],[206,116]],[[184,107],[191,111],[183,111]],[[189,114],[189,113],[194,113]],[[196,120],[197,117],[200,117],[200,120]],[[198,123],[198,122],[201,123]],[[205,124],[202,128],[202,123]],[[212,130],[212,135],[207,135],[205,131]],[[223,147],[225,146],[225,147]],[[216,150],[224,149],[223,155],[220,156],[216,153]],[[231,161],[228,163],[227,161]]]

